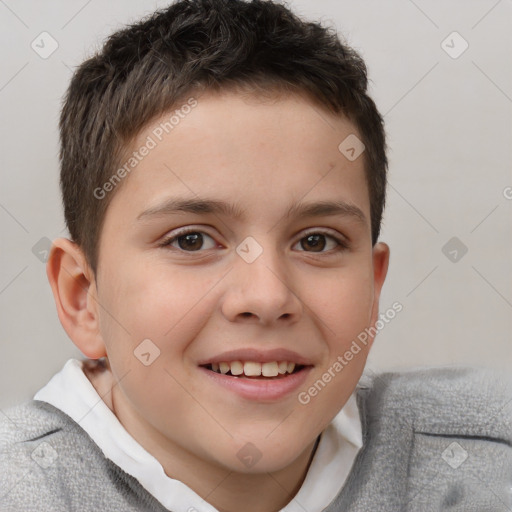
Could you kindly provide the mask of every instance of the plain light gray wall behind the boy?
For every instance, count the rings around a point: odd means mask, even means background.
[[[80,356],[32,251],[43,237],[67,236],[57,122],[73,66],[122,24],[167,4],[0,0],[0,407],[30,398]],[[362,53],[385,114],[390,176],[381,239],[391,263],[381,310],[399,301],[403,311],[379,333],[368,365],[510,367],[512,2],[290,5],[337,27]],[[31,48],[43,31],[59,45],[47,59]],[[456,59],[442,47],[453,31],[469,44]],[[445,44],[461,48],[453,37]],[[454,236],[468,248],[457,262],[442,252]]]

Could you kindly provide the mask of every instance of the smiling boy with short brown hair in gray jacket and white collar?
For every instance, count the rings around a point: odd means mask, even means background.
[[[178,1],[82,64],[47,273],[87,359],[3,418],[2,510],[509,509],[507,380],[360,381],[391,316],[366,86],[260,0]]]

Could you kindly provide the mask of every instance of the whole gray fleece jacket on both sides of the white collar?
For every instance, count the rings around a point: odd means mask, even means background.
[[[367,371],[357,399],[364,445],[325,512],[512,510],[511,376]],[[167,509],[53,406],[0,411],[0,511],[98,510]]]

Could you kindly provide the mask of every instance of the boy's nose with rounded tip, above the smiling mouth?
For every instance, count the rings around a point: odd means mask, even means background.
[[[282,256],[268,248],[252,263],[235,255],[223,296],[223,315],[231,322],[262,325],[297,322],[303,303],[294,290],[291,272]]]

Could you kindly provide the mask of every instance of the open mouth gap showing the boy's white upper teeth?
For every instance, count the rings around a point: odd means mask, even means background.
[[[200,365],[211,372],[238,379],[277,380],[304,370],[307,366],[292,361],[221,361]]]

